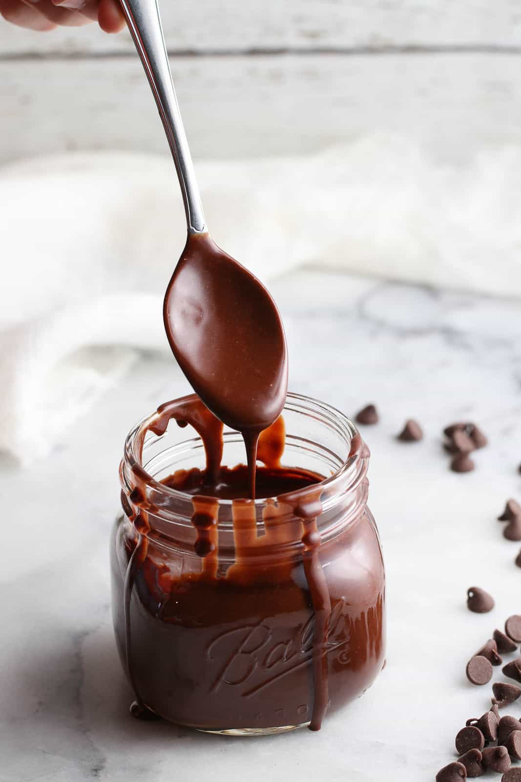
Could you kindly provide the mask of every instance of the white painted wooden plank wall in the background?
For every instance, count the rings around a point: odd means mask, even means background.
[[[465,158],[521,142],[518,0],[162,0],[195,156],[310,152],[391,130]],[[0,160],[166,151],[127,34],[0,20]]]

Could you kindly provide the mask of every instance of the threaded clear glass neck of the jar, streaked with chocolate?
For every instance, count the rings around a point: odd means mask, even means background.
[[[209,498],[205,511],[218,525],[219,558],[234,558],[237,548],[250,557],[261,551],[262,556],[269,551],[270,556],[277,557],[287,556],[295,547],[300,551],[303,526],[311,520],[316,520],[316,529],[325,543],[359,518],[366,506],[369,449],[355,425],[333,407],[295,394],[288,394],[285,414],[286,443],[291,452],[288,459],[294,461],[308,457],[306,451],[313,452],[331,474],[317,484],[269,499]],[[183,428],[174,428],[177,436],[169,444],[166,438],[173,419]],[[187,421],[195,429],[195,437],[189,428],[184,429]],[[162,405],[127,437],[120,466],[123,510],[133,523],[140,517],[141,534],[145,530],[158,545],[193,551],[194,513],[201,511],[194,507],[191,494],[166,486],[162,479],[169,470],[183,469],[187,454],[200,459],[205,454],[206,468],[218,468],[216,453],[220,461],[223,441],[220,451],[209,448],[208,432],[215,446],[222,425],[191,395]],[[225,453],[234,439],[236,432],[224,432]]]

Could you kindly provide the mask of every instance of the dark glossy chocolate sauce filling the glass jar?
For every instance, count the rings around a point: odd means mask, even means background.
[[[277,497],[266,500],[259,533],[248,469],[220,465],[219,422],[187,397],[160,407],[149,429],[161,434],[170,418],[194,425],[207,454],[205,470],[178,470],[163,480],[192,497],[200,569],[173,572],[156,545],[149,531],[155,508],[136,463],[136,490],[123,495],[123,507],[141,533],[123,523],[112,551],[116,638],[136,693],[134,716],[151,716],[149,706],[203,730],[301,723],[318,730],[328,704],[337,708],[360,694],[383,663],[383,566],[374,527],[361,517],[320,543],[322,476],[280,465],[279,418],[259,442],[265,464],[257,468],[257,497]],[[141,447],[144,439],[145,432]],[[219,499],[232,500],[234,561],[224,570]]]

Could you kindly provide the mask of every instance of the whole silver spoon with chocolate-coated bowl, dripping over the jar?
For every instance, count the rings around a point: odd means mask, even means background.
[[[286,400],[284,328],[262,283],[210,239],[157,0],[121,5],[165,127],[187,219],[187,243],[164,301],[166,335],[194,391],[244,436],[253,482],[259,433]]]

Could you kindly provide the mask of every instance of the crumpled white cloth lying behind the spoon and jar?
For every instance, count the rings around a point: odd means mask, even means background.
[[[320,264],[521,296],[521,148],[456,168],[376,134],[314,157],[196,168],[213,238],[265,282]],[[136,349],[166,350],[162,294],[184,239],[167,158],[0,169],[0,450],[46,454]]]

